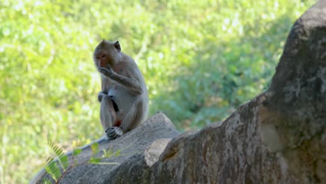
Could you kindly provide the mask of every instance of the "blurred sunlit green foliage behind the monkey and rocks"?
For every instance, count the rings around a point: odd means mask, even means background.
[[[314,1],[0,0],[0,183],[27,183],[47,141],[102,135],[95,46],[119,40],[150,112],[180,131],[222,121],[267,89],[293,22]]]

